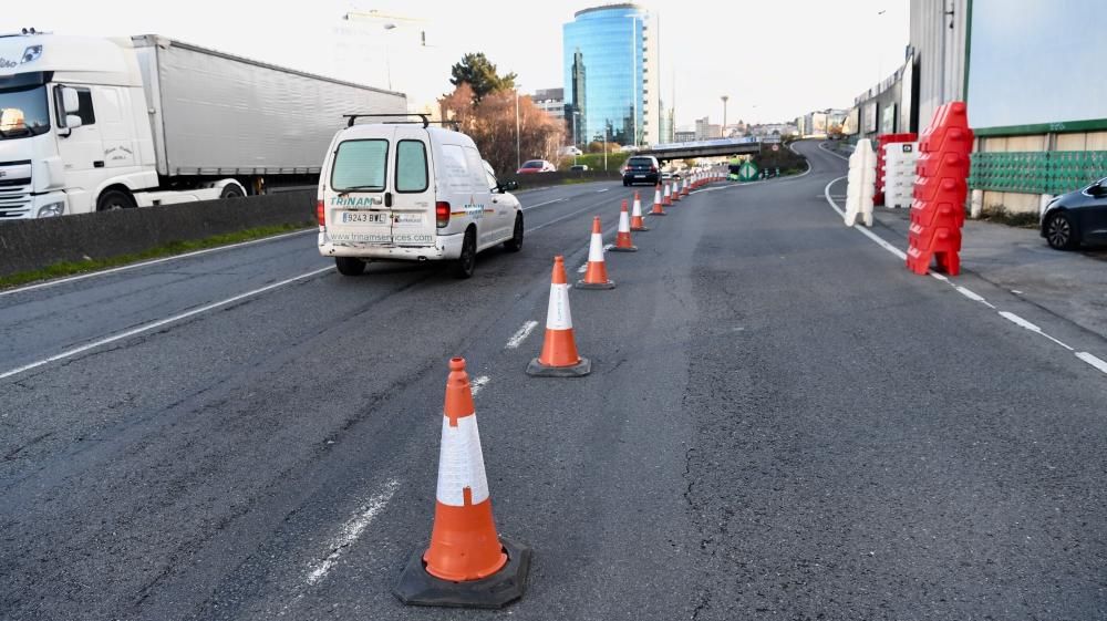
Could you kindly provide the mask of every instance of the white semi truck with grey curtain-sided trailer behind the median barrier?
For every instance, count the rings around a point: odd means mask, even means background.
[[[0,37],[0,220],[314,187],[362,112],[407,100],[153,34]]]

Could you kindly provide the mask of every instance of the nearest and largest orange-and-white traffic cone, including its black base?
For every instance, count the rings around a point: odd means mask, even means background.
[[[530,549],[496,535],[465,360],[449,361],[431,546],[393,592],[406,604],[503,608],[523,597]]]

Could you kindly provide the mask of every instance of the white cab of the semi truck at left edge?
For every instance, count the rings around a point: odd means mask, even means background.
[[[130,39],[0,37],[0,219],[134,206],[149,144]]]

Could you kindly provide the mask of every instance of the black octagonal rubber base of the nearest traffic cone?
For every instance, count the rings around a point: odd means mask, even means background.
[[[503,536],[499,542],[507,555],[507,565],[488,578],[465,582],[442,580],[427,573],[423,561],[426,546],[418,547],[412,552],[392,592],[407,606],[504,608],[521,598],[527,590],[530,548]]]

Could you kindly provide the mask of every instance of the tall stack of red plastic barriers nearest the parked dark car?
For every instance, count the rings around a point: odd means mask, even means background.
[[[927,273],[932,259],[940,271],[961,272],[972,138],[964,102],[950,102],[938,108],[919,141],[907,251],[907,267],[915,273]]]

